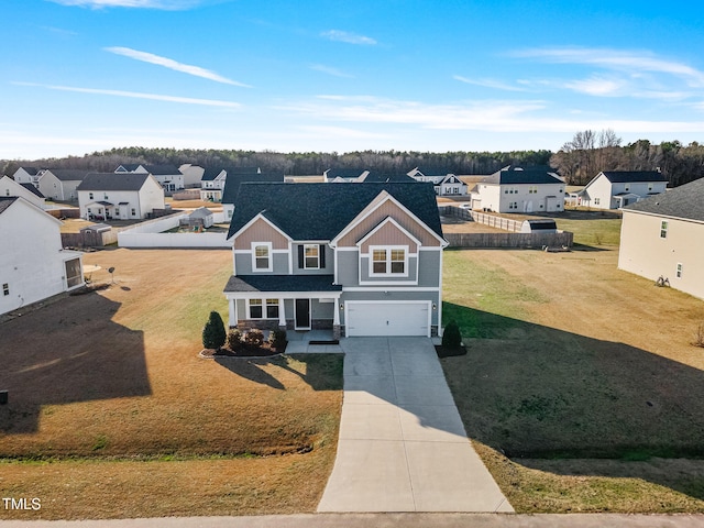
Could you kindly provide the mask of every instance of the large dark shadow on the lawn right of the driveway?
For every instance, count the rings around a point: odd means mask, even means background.
[[[701,370],[618,341],[443,310],[468,344],[442,365],[470,438],[512,459],[704,457]],[[704,499],[702,486],[681,491]]]

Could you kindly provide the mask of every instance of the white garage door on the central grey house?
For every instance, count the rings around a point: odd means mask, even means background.
[[[345,305],[348,337],[430,337],[429,301],[350,300]]]

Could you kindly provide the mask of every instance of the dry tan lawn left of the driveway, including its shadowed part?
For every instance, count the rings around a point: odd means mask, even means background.
[[[334,459],[342,359],[197,358],[227,320],[229,251],[86,254],[108,289],[3,323],[2,496],[13,518],[309,512]]]

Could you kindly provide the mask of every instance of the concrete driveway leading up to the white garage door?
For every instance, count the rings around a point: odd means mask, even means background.
[[[466,438],[427,338],[348,338],[334,468],[318,512],[512,508]]]

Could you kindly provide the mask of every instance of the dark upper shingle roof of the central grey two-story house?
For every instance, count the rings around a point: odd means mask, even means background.
[[[442,237],[436,193],[430,183],[248,183],[240,186],[228,238],[263,212],[294,240],[332,240],[383,190]]]

